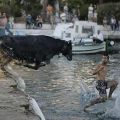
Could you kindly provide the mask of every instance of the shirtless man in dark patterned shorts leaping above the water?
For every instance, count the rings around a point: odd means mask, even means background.
[[[116,80],[105,80],[107,75],[107,63],[109,61],[109,56],[107,54],[104,54],[102,56],[102,62],[101,64],[98,64],[93,71],[92,75],[96,75],[96,89],[99,92],[99,98],[90,101],[89,104],[87,104],[84,108],[84,111],[92,105],[105,102],[107,99],[112,98],[112,93],[116,89],[118,82]],[[107,96],[106,89],[109,89],[109,94]]]

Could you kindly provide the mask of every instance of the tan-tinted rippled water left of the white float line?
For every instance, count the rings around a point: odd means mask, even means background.
[[[14,80],[4,76],[0,70],[0,120],[38,120],[32,113],[25,113],[20,105],[26,104],[26,98],[20,91],[14,90]],[[11,92],[13,91],[13,92]]]

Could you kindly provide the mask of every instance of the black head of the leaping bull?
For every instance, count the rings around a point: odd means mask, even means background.
[[[71,41],[66,41],[62,50],[62,54],[68,59],[72,60],[72,43]]]

